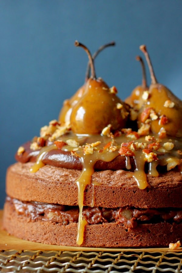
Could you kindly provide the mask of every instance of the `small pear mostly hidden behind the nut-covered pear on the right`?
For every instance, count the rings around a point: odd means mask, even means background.
[[[125,102],[128,103],[131,107],[139,110],[142,106],[142,94],[145,90],[148,90],[147,81],[146,81],[146,72],[145,72],[145,65],[143,59],[140,56],[136,56],[136,60],[140,61],[142,67],[142,84],[136,86],[133,89],[131,95],[125,99]]]

